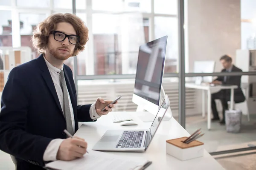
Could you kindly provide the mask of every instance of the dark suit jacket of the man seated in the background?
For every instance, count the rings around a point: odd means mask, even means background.
[[[221,72],[226,72],[226,69],[222,69]],[[231,72],[242,72],[240,68],[237,68],[233,65]],[[238,88],[234,90],[234,100],[236,103],[244,102],[245,97],[244,93],[241,90],[241,76],[227,76],[226,82],[224,82],[224,76],[218,77],[216,80],[221,81],[223,84],[227,85],[237,85]],[[223,90],[225,92],[225,97],[227,100],[230,100],[230,90]]]

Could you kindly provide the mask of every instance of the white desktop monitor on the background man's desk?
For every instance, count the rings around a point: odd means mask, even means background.
[[[194,73],[213,73],[215,68],[215,61],[195,61]],[[196,77],[196,81],[201,79],[201,82],[212,82],[212,76]]]

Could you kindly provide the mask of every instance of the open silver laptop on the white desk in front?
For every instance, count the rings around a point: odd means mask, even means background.
[[[146,151],[163,120],[163,116],[169,110],[169,105],[169,98],[166,94],[150,129],[107,130],[102,138],[93,146],[92,150],[122,152]]]

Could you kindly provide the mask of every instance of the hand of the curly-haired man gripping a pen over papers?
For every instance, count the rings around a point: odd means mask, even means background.
[[[57,160],[71,161],[84,156],[87,150],[87,142],[74,136],[61,142],[58,149]]]

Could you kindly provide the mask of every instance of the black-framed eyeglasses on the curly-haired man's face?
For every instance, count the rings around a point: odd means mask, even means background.
[[[73,45],[76,45],[80,39],[78,35],[67,35],[61,31],[51,31],[50,34],[53,34],[54,40],[56,41],[64,41],[68,37],[68,41]]]

